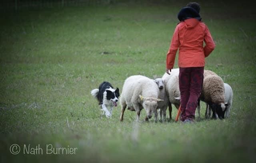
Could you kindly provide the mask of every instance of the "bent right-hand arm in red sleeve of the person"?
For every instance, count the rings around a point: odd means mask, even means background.
[[[204,42],[206,44],[204,46],[204,57],[208,57],[210,53],[214,50],[215,43],[207,26],[205,26]]]

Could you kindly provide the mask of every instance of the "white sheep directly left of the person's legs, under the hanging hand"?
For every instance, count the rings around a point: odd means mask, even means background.
[[[174,104],[177,109],[180,107],[180,100],[177,99],[180,97],[178,71],[171,72],[170,75],[166,76],[164,79],[164,86],[169,100],[168,108],[170,112],[170,119],[172,119],[172,104]]]

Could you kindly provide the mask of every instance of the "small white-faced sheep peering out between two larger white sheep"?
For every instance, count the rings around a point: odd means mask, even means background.
[[[166,95],[164,80],[162,78],[156,78],[154,81],[156,82],[156,84],[158,85],[158,88],[159,88],[159,98],[163,100],[163,101],[158,102],[160,121],[162,121],[162,116],[165,121],[166,120],[166,109],[169,104],[169,99]]]

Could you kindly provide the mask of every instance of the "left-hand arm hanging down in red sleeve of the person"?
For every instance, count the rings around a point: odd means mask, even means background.
[[[176,57],[176,52],[180,45],[178,30],[179,30],[178,26],[176,26],[175,31],[172,36],[170,48],[166,55],[166,73],[168,73],[168,70],[171,70],[173,68],[175,57]]]

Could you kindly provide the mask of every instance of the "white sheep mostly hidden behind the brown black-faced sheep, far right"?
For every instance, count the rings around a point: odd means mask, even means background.
[[[225,103],[228,104],[226,106],[226,111],[225,111],[225,118],[228,118],[230,116],[230,110],[232,107],[232,100],[233,100],[233,90],[231,86],[227,83],[224,83],[224,93],[225,93]],[[209,105],[206,104],[206,112],[205,112],[205,117],[208,118],[212,114],[211,110],[209,110]]]

